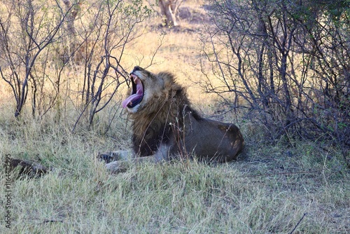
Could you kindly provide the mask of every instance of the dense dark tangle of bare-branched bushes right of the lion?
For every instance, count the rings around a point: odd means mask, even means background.
[[[282,136],[350,147],[349,1],[209,1],[214,27],[202,36],[230,109]],[[209,35],[209,36],[206,36]],[[206,61],[202,61],[207,75]],[[206,67],[205,67],[206,68]],[[208,77],[208,76],[207,76]]]

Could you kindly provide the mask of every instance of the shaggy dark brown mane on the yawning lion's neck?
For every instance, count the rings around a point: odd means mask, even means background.
[[[174,128],[183,126],[184,115],[190,113],[196,120],[201,119],[199,113],[190,106],[186,89],[174,81],[174,76],[166,72],[158,76],[165,80],[163,91],[166,92],[163,93],[167,98],[159,97],[142,111],[132,114],[133,149],[139,156],[153,155],[160,144],[167,144],[174,137]]]

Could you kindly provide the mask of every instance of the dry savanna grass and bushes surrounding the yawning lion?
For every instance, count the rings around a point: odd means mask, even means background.
[[[1,233],[349,233],[350,1],[169,2],[1,1]],[[238,125],[239,159],[107,173],[136,65]]]

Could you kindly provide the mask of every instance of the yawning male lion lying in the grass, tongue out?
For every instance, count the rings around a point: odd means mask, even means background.
[[[232,123],[202,118],[188,100],[186,89],[169,72],[153,74],[141,67],[130,73],[132,87],[122,102],[132,119],[132,153],[102,153],[111,172],[125,170],[134,159],[160,163],[181,157],[223,163],[235,160],[244,138]]]

